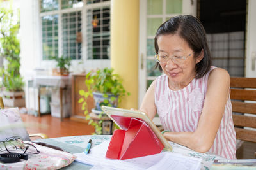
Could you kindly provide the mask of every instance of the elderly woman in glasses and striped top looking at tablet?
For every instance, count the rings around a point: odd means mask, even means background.
[[[157,29],[156,67],[140,110],[158,113],[164,137],[196,152],[236,159],[230,76],[211,66],[204,27],[191,15],[170,18]]]

